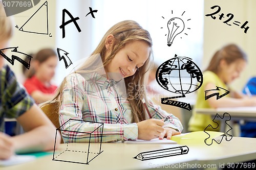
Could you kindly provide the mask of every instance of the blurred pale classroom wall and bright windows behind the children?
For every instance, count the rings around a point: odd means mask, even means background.
[[[41,0],[35,7],[22,13],[13,15],[14,26],[22,27],[24,23],[39,9],[45,0]],[[211,9],[212,6],[218,5],[220,11],[215,14],[216,19],[211,16],[205,16],[217,11],[217,8]],[[14,36],[9,46],[18,46],[20,52],[30,54],[35,53],[41,48],[50,47],[53,49],[60,48],[66,51],[72,61],[68,69],[61,60],[58,62],[54,81],[60,84],[63,78],[69,74],[72,68],[80,60],[88,57],[102,38],[103,34],[114,23],[121,20],[132,19],[151,33],[153,38],[154,58],[157,64],[173,58],[175,54],[193,59],[193,61],[203,71],[212,55],[223,45],[227,43],[236,43],[248,55],[249,62],[246,69],[242,72],[241,77],[231,84],[233,89],[242,90],[247,80],[255,76],[256,68],[256,51],[254,47],[254,37],[256,37],[256,11],[254,0],[187,0],[187,1],[146,1],[146,0],[48,0],[46,10],[38,10],[30,21],[28,28],[36,31],[45,30],[48,19],[48,35],[34,34],[19,31],[14,28]],[[90,13],[92,10],[97,12]],[[70,16],[65,13],[65,20],[62,21],[63,9],[77,19],[77,24],[81,30],[78,32],[74,23],[71,22],[65,26],[65,38],[62,38],[62,22],[70,20]],[[224,18],[220,18],[221,14]],[[233,18],[228,22],[231,26],[223,23],[231,13]],[[88,14],[88,15],[87,15]],[[94,17],[93,17],[93,15]],[[172,44],[167,46],[166,28],[167,21],[172,17],[180,17],[184,20],[184,31],[179,34]],[[244,22],[248,21],[245,29],[240,28]],[[240,23],[239,23],[240,22]],[[240,26],[234,25],[234,23]],[[7,62],[6,62],[7,63]],[[17,61],[12,66],[19,80],[22,80],[23,65]],[[170,92],[169,92],[170,93]],[[196,94],[195,94],[196,95]],[[163,106],[170,109],[169,106]],[[175,109],[175,108],[174,108]],[[171,111],[179,118],[179,111]]]

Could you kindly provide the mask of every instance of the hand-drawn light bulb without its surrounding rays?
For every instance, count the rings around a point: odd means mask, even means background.
[[[168,28],[168,39],[167,39],[167,45],[170,46],[173,44],[174,38],[180,34],[184,30],[184,22],[180,18],[172,18],[167,23]]]

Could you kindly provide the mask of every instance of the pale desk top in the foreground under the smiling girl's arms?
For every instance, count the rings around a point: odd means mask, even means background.
[[[230,141],[223,140],[221,144],[214,143],[210,146],[205,143],[187,145],[189,148],[188,154],[176,155],[158,159],[141,161],[134,159],[137,154],[146,151],[153,151],[166,148],[174,148],[179,144],[125,144],[125,143],[102,143],[101,151],[95,159],[89,164],[78,164],[70,162],[53,161],[53,155],[45,156],[36,159],[35,161],[13,165],[1,168],[3,170],[30,170],[30,169],[150,169],[153,167],[162,168],[168,167],[187,168],[190,166],[202,167],[204,164],[215,164],[218,168],[220,164],[231,162],[243,162],[251,159],[256,159],[256,139],[233,137]],[[88,143],[69,143],[68,148],[77,151],[87,151]],[[90,150],[97,148],[97,143],[91,143]],[[60,145],[57,154],[66,150],[67,143]],[[75,152],[74,152],[75,153]],[[73,154],[74,154],[73,153]],[[81,159],[79,153],[75,156],[67,154],[62,158],[66,160]],[[180,164],[179,164],[180,163]],[[177,166],[175,166],[177,165]],[[179,166],[184,165],[184,166]]]

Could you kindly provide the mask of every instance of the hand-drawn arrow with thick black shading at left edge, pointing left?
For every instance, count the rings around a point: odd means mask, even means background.
[[[9,63],[11,63],[12,65],[14,65],[14,60],[17,60],[18,62],[22,63],[26,68],[29,69],[30,67],[30,61],[31,61],[31,56],[22,53],[22,52],[18,52],[17,47],[9,47],[9,48],[3,48],[0,50],[0,55],[3,56]],[[12,52],[12,56],[11,58],[7,57],[7,55],[4,53],[4,51],[9,50],[9,49],[13,49]],[[23,59],[21,59],[18,56],[25,56],[29,59],[29,62],[27,63],[26,61],[24,61]]]

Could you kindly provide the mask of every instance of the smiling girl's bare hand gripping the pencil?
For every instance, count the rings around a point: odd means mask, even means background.
[[[138,139],[151,140],[159,137],[164,132],[163,120],[151,118],[143,120],[138,125]]]

